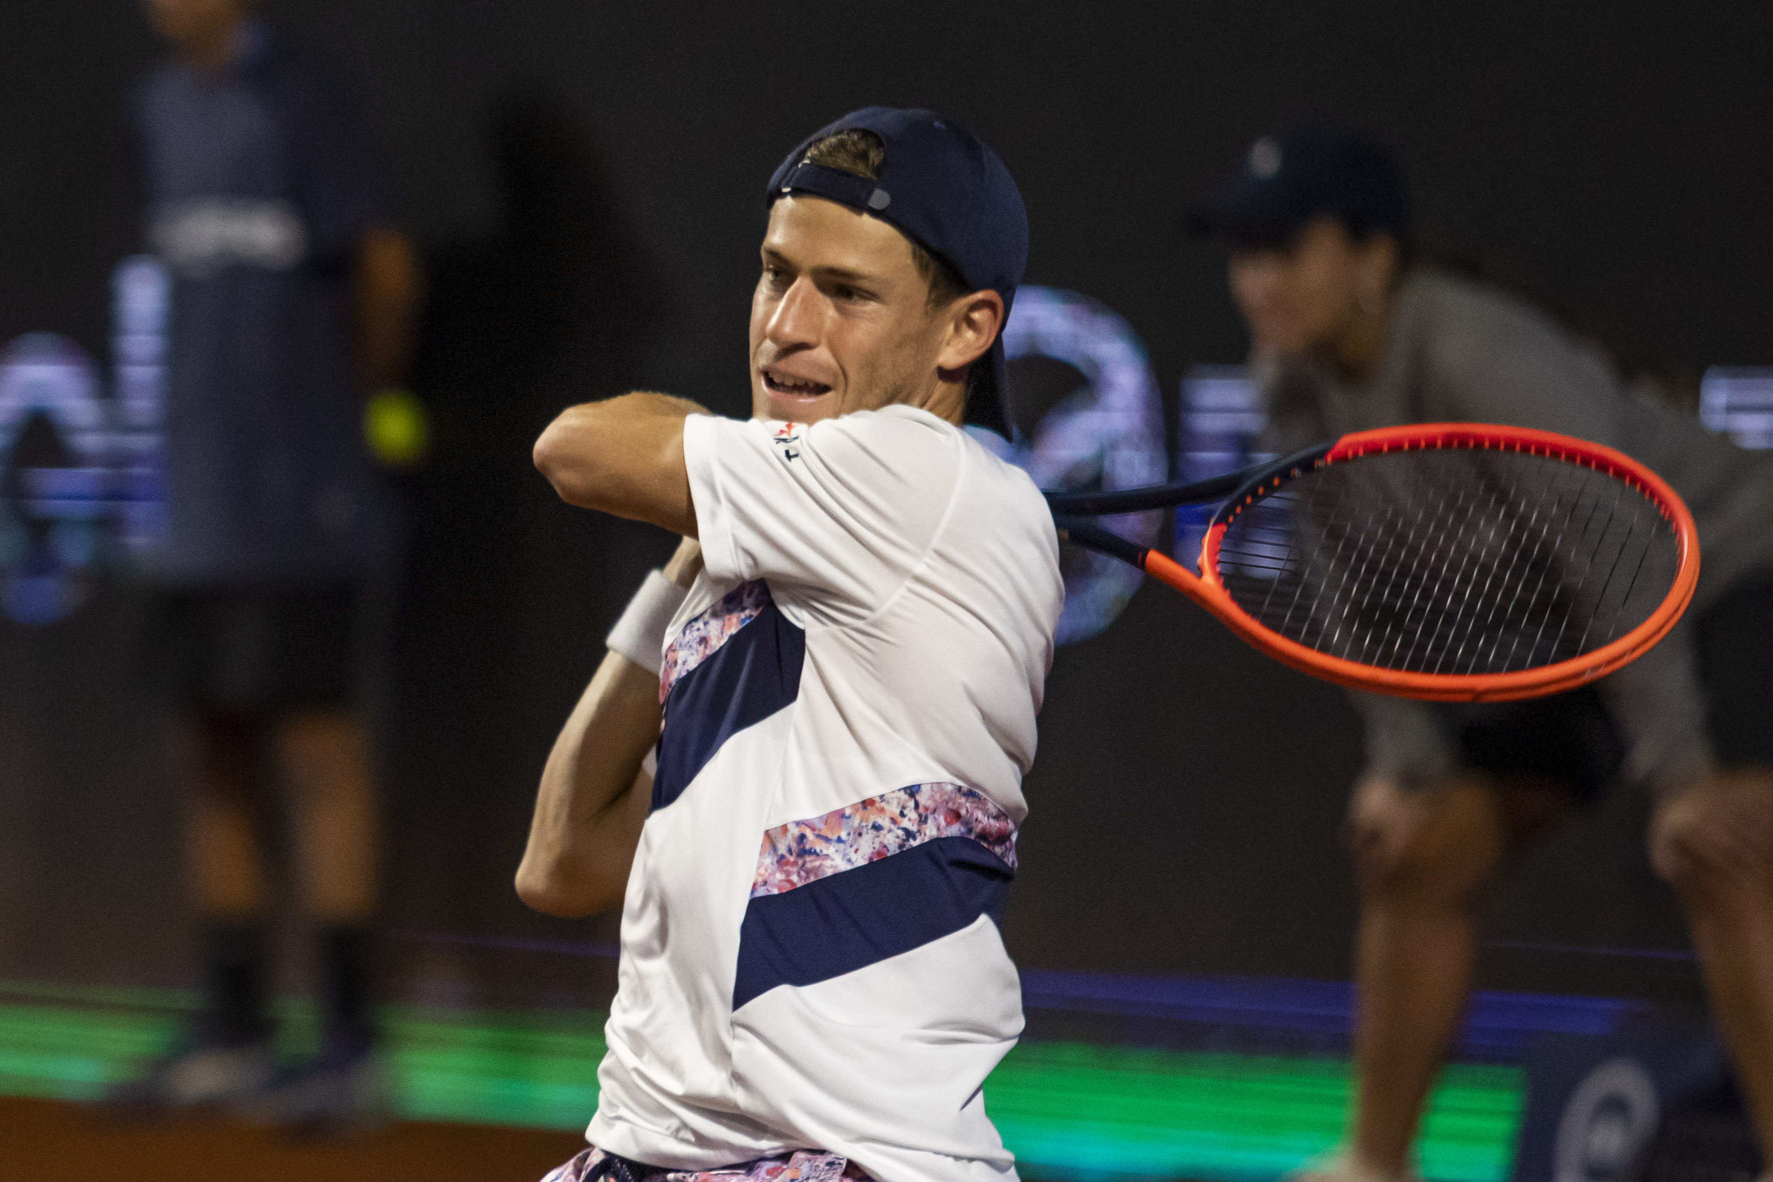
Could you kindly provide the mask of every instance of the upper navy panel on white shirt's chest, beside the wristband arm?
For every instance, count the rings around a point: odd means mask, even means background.
[[[684,673],[665,698],[652,808],[683,796],[727,739],[793,704],[805,659],[807,633],[771,601]]]

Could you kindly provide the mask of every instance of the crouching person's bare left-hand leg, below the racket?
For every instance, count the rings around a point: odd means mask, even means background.
[[[1420,792],[1381,780],[1356,789],[1355,1166],[1402,1175],[1472,987],[1473,898],[1511,845],[1558,812],[1553,801],[1484,778]]]

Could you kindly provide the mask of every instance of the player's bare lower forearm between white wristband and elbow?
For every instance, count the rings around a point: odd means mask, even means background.
[[[640,764],[658,734],[658,679],[606,654],[543,769],[518,867],[525,904],[580,916],[622,900],[651,803],[651,778]]]

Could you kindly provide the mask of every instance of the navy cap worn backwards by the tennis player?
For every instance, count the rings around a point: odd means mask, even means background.
[[[872,131],[886,145],[879,177],[826,168],[807,151],[839,131]],[[970,291],[1004,296],[1004,317],[1028,266],[1028,211],[998,154],[954,121],[927,110],[865,106],[808,135],[769,177],[764,206],[807,193],[860,209],[892,225],[952,266]],[[980,365],[982,363],[982,365]],[[1004,333],[973,362],[966,422],[1011,436]]]

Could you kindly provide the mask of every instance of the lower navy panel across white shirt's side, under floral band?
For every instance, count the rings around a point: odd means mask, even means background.
[[[732,1008],[1002,920],[1014,872],[968,836],[941,836],[745,907]]]

